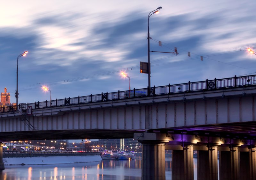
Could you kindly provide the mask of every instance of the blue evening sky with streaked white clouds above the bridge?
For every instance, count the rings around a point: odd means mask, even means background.
[[[3,1],[0,92],[19,103],[146,88],[148,14],[151,86],[256,74],[256,1]],[[159,41],[162,46],[159,46]],[[191,56],[188,57],[188,52]],[[201,61],[203,56],[203,61]]]

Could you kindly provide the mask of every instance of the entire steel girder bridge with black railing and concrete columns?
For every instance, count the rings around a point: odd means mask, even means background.
[[[165,179],[165,149],[172,179],[194,178],[193,150],[198,179],[255,179],[255,94],[252,75],[19,104],[1,108],[0,142],[134,138],[142,179]]]

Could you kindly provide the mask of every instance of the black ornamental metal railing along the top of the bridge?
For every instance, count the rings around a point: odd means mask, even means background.
[[[217,90],[225,88],[236,88],[243,86],[256,85],[256,75],[251,76],[240,76],[240,77],[230,77],[223,79],[212,79],[206,81],[198,82],[188,82],[182,84],[169,84],[167,86],[158,86],[142,89],[133,89],[125,91],[117,91],[110,93],[101,93],[89,96],[78,96],[78,97],[68,97],[64,99],[56,99],[52,101],[35,102],[27,104],[19,104],[19,109],[26,110],[28,106],[32,109],[46,108],[46,107],[56,107],[56,106],[67,106],[73,104],[85,104],[93,102],[104,102],[104,101],[114,101],[118,99],[126,98],[138,98],[147,96],[159,96],[159,95],[170,95],[175,93],[189,93],[193,91],[207,91],[207,90]],[[4,106],[0,108],[0,112],[15,112],[16,105]]]

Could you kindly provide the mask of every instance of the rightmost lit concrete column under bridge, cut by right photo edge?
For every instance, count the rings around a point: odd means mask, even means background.
[[[255,148],[239,152],[239,179],[256,179]]]

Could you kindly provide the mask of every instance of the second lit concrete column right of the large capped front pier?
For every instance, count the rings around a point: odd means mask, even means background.
[[[217,146],[197,152],[197,179],[218,179]]]

